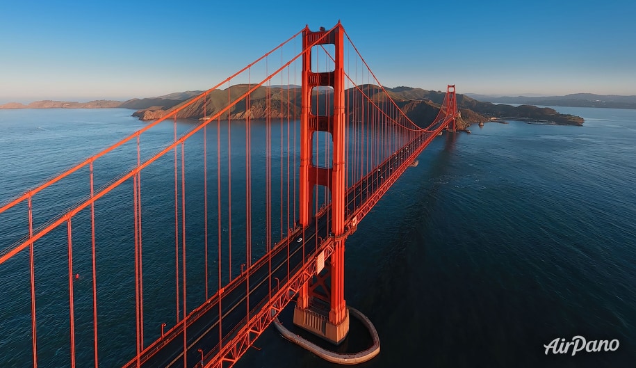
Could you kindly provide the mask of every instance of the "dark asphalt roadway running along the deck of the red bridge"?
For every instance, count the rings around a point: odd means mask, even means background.
[[[394,168],[407,159],[415,159],[417,148],[432,134],[422,134],[348,189],[346,214],[353,214],[364,204],[395,173]],[[434,134],[437,135],[437,130]],[[186,328],[188,367],[195,367],[201,362],[201,353],[198,349],[202,349],[206,354],[213,349],[218,351],[219,330],[224,341],[236,333],[234,329],[242,326],[240,324],[242,321],[247,321],[248,305],[250,315],[253,315],[252,311],[259,310],[259,307],[269,301],[270,291],[273,294],[279,287],[278,282],[275,281],[276,278],[284,282],[288,275],[294,275],[302,269],[307,259],[316,254],[323,239],[329,236],[330,218],[330,207],[328,207],[327,211],[323,211],[307,227],[293,232],[284,241],[277,243],[271,251],[271,262],[268,255],[261,257],[252,267],[225,287],[224,292],[220,294],[220,300],[217,293],[188,316]],[[271,278],[268,277],[269,275]],[[250,292],[245,293],[246,290]],[[222,315],[221,323],[220,314]],[[184,367],[183,326],[181,321],[142,351],[139,357],[140,367]],[[124,367],[136,367],[136,365],[135,358]]]

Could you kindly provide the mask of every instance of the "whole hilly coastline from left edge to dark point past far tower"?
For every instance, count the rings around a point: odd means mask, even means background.
[[[239,97],[243,95],[250,86],[237,84],[229,86],[225,90],[212,90],[206,99],[198,100],[189,104],[177,113],[177,118],[204,118],[222,111],[227,106],[228,97]],[[324,90],[314,88],[314,93],[318,95],[318,111],[325,114],[327,101],[333,98],[330,88]],[[170,93],[158,97],[143,99],[129,99],[125,102],[97,100],[91,102],[62,102],[62,101],[38,101],[31,104],[10,103],[1,105],[0,109],[52,109],[52,108],[73,108],[73,109],[99,109],[99,108],[125,108],[136,109],[133,116],[141,120],[154,120],[162,118],[170,111],[178,109],[188,103],[190,99],[200,95],[203,91],[186,91],[181,93]],[[352,101],[365,101],[360,96],[361,93],[368,95],[372,102],[383,101],[385,94],[389,95],[396,105],[416,124],[425,127],[435,118],[441,104],[443,103],[446,91],[424,90],[422,88],[412,88],[398,86],[396,88],[382,88],[373,84],[357,86],[345,91],[347,97]],[[268,97],[269,96],[269,97]],[[269,98],[269,102],[267,101]],[[503,97],[502,97],[503,98]],[[223,118],[233,120],[244,120],[247,117],[253,119],[265,118],[268,113],[272,118],[280,118],[280,114],[288,111],[294,118],[300,118],[301,111],[301,88],[300,86],[261,86],[256,88],[251,94],[250,104],[245,101],[239,102],[223,114]],[[491,118],[519,118],[523,120],[535,120],[539,122],[552,122],[561,125],[582,125],[583,119],[575,115],[557,113],[549,108],[538,108],[536,106],[509,106],[505,104],[492,104],[491,102],[481,102],[467,95],[457,94],[457,106],[462,118],[458,122],[458,129],[466,129],[474,122],[486,122]],[[358,106],[352,109],[365,109],[368,106]],[[387,109],[389,107],[387,106]],[[356,113],[350,110],[348,113]]]

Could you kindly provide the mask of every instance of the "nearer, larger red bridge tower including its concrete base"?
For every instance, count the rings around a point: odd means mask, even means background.
[[[309,225],[313,214],[313,189],[329,188],[332,196],[332,229],[334,251],[325,259],[325,269],[300,289],[294,310],[294,323],[334,344],[340,344],[349,332],[349,310],[344,299],[345,255],[345,74],[343,56],[344,29],[340,22],[329,31],[302,32],[302,47],[334,45],[334,70],[311,71],[311,49],[302,55],[302,115],[300,118],[300,223]],[[325,36],[323,38],[323,36]],[[318,86],[334,88],[333,112],[311,113],[311,90]],[[318,107],[318,106],[316,106]],[[318,113],[319,109],[315,109]],[[318,113],[319,114],[319,113]],[[334,149],[332,167],[313,166],[313,133],[331,134]],[[320,308],[323,306],[323,308]],[[328,306],[328,307],[326,307]],[[326,310],[329,310],[328,315]],[[327,319],[327,321],[325,321]]]

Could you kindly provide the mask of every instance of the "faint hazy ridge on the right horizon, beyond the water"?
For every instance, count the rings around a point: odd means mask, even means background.
[[[564,96],[489,96],[468,94],[480,101],[503,104],[528,104],[539,106],[571,106],[571,107],[601,107],[609,109],[636,109],[636,95],[595,95],[594,93],[573,93]]]

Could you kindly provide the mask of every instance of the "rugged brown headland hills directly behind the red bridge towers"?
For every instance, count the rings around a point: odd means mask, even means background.
[[[247,85],[230,86],[226,90],[213,90],[208,93],[205,100],[197,100],[189,103],[181,102],[170,108],[162,109],[140,109],[133,113],[141,120],[154,120],[162,118],[174,109],[179,109],[183,104],[188,103],[184,109],[177,113],[177,118],[204,118],[204,111],[208,115],[213,115],[216,111],[222,111],[227,106],[228,95],[238,97],[243,95],[247,90]],[[332,95],[326,90],[314,90],[318,98],[318,111],[327,106],[327,99],[331,99]],[[248,105],[239,102],[231,109],[223,113],[222,118],[231,118],[232,120],[243,120],[248,116],[253,119],[261,119],[266,117],[266,113],[271,114],[272,118],[280,118],[280,113],[289,111],[294,118],[300,118],[301,111],[301,89],[299,86],[261,86],[252,92],[249,110]],[[435,118],[441,104],[443,103],[446,91],[440,90],[424,90],[422,88],[412,88],[407,86],[399,86],[396,88],[382,88],[373,84],[357,86],[345,90],[345,95],[351,101],[365,101],[359,95],[364,93],[371,102],[379,102],[384,100],[384,95],[389,95],[397,106],[416,124],[425,127]],[[266,97],[270,96],[270,102]],[[205,103],[205,106],[204,106]],[[579,116],[557,113],[554,109],[538,108],[536,106],[509,106],[503,104],[492,104],[490,102],[480,102],[466,95],[457,94],[457,106],[462,112],[462,119],[459,121],[459,129],[466,129],[473,122],[486,122],[491,118],[507,118],[520,120],[531,120],[537,122],[549,122],[560,125],[582,125],[583,119]],[[365,107],[352,107],[348,113],[356,113],[352,109],[364,109]],[[389,108],[387,106],[387,108]]]

